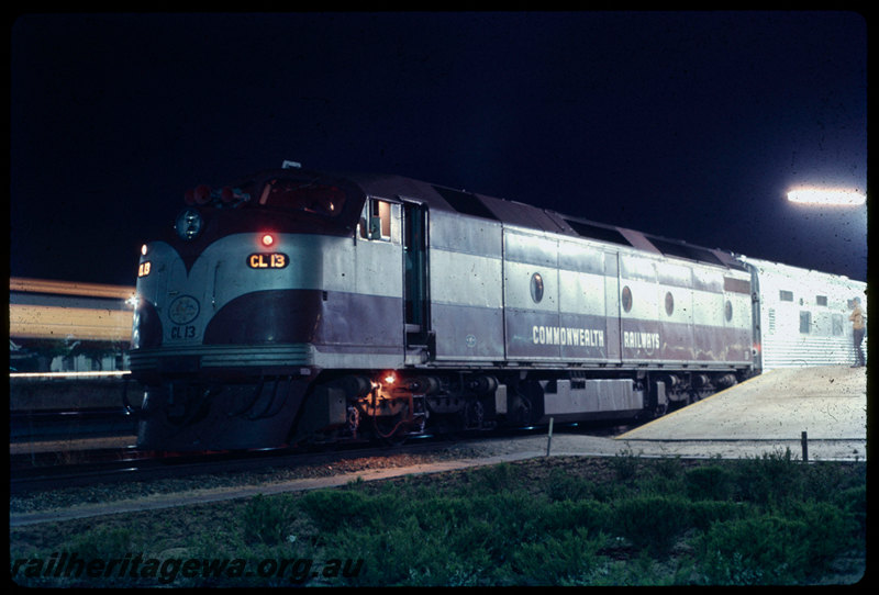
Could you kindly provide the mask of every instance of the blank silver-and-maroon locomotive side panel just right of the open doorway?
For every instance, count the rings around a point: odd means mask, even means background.
[[[433,211],[430,238],[435,360],[502,360],[501,225]]]

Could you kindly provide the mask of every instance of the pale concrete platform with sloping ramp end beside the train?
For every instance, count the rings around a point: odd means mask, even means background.
[[[666,451],[681,452],[672,445],[726,441],[795,447],[803,431],[810,445],[835,444],[849,453],[845,458],[852,458],[855,451],[856,458],[866,459],[866,368],[771,370],[616,439],[631,444],[633,449],[653,450],[661,444]],[[799,448],[791,450],[799,453]]]

